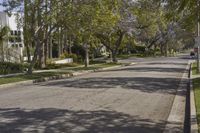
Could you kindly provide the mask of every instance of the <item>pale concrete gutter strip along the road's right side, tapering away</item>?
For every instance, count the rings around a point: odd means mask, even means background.
[[[184,133],[188,70],[189,62],[182,75],[163,133]]]

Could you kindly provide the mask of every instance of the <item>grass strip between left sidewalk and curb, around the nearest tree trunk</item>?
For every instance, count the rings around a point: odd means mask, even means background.
[[[5,78],[0,78],[0,85],[26,81],[26,80],[36,80],[36,79],[40,79],[44,77],[57,76],[60,74],[67,74],[67,73],[68,72],[41,72],[41,73],[33,73],[32,75],[25,74],[25,75],[13,76],[13,77],[5,77]]]

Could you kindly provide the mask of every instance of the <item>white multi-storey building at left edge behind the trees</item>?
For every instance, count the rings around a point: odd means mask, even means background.
[[[0,56],[4,58],[4,61],[20,62],[23,57],[23,28],[18,25],[17,18],[19,18],[17,13],[8,16],[7,13],[0,12],[0,27],[8,26],[10,28],[8,38],[4,40],[1,48],[3,53]]]

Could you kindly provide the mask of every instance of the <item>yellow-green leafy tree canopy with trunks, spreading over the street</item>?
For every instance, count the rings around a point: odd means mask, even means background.
[[[80,45],[85,66],[90,48],[97,45],[104,45],[114,62],[120,50],[133,45],[167,56],[192,41],[198,14],[195,0],[10,0],[1,5],[8,13],[24,14],[20,23],[30,73],[37,62],[45,67],[55,44],[59,55]]]

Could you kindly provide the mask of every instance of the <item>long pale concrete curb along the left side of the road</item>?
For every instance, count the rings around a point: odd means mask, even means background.
[[[45,78],[40,78],[37,80],[28,80],[28,81],[20,81],[20,82],[16,82],[16,83],[8,83],[8,84],[0,85],[0,88],[12,87],[15,85],[26,85],[26,84],[33,84],[33,83],[47,82],[47,81],[52,81],[52,80],[65,79],[65,78],[70,78],[70,77],[84,75],[84,74],[93,73],[93,72],[101,72],[101,71],[106,71],[106,70],[117,69],[117,68],[124,67],[124,66],[131,66],[131,65],[135,65],[135,64],[137,64],[137,63],[130,63],[127,65],[119,65],[119,66],[106,67],[106,68],[100,68],[100,69],[94,69],[94,70],[84,70],[81,72],[73,72],[73,73],[62,74],[62,75],[58,75],[58,76],[45,77]]]

